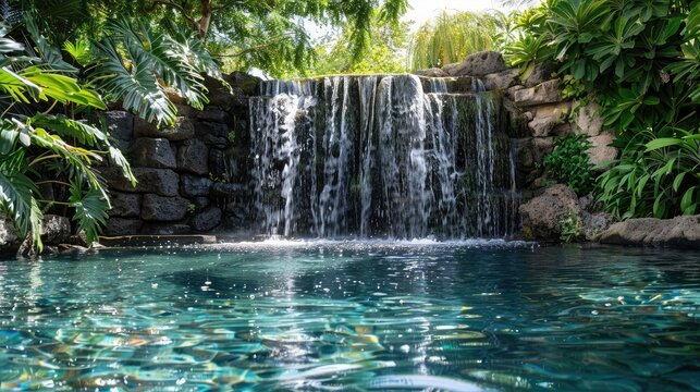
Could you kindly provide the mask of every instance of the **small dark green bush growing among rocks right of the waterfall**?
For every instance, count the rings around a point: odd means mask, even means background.
[[[554,140],[554,151],[544,158],[547,173],[567,184],[578,195],[591,192],[593,175],[588,160],[591,144],[586,135],[567,134]]]

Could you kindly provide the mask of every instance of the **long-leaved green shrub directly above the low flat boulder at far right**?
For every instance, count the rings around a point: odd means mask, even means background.
[[[700,211],[700,134],[664,128],[640,132],[598,179],[598,200],[618,219],[670,218]]]

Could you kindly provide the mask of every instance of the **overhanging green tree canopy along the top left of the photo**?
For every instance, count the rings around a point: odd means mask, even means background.
[[[153,25],[174,24],[194,28],[213,54],[240,70],[256,66],[272,76],[304,72],[315,59],[314,42],[306,26],[347,26],[348,50],[360,61],[371,42],[374,22],[396,27],[407,0],[14,0],[23,9],[45,10],[41,29],[60,33],[49,41],[79,36],[99,38],[108,32],[107,20],[131,12],[147,16]],[[378,17],[373,17],[373,15]],[[59,26],[60,28],[56,28]],[[47,27],[47,28],[44,28]],[[165,28],[167,29],[167,28]],[[70,32],[65,33],[65,32]]]

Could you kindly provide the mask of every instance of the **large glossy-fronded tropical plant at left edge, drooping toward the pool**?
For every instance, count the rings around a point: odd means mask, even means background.
[[[109,208],[107,187],[94,166],[109,158],[132,183],[135,179],[106,133],[49,113],[61,105],[106,109],[100,97],[82,87],[71,71],[53,69],[50,62],[28,56],[24,45],[7,36],[9,30],[0,24],[0,213],[13,220],[26,238],[26,248],[41,252],[42,209],[64,205],[74,211],[78,231],[91,243]],[[35,45],[41,57],[52,56],[39,38]],[[49,105],[48,110],[38,112],[44,103]],[[66,201],[44,199],[38,184],[65,187],[70,197]]]

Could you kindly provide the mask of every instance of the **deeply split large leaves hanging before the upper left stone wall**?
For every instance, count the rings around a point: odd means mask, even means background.
[[[196,109],[208,102],[200,73],[220,77],[220,72],[194,33],[170,35],[145,19],[127,17],[110,20],[107,28],[110,34],[94,42],[97,61],[90,78],[109,100],[121,100],[124,109],[165,125],[176,117],[167,87]]]

